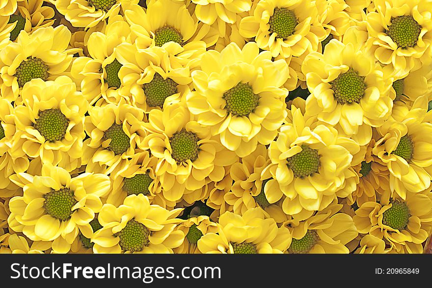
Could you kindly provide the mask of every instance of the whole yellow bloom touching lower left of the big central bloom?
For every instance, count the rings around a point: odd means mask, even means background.
[[[163,197],[178,201],[186,190],[202,188],[210,181],[220,181],[224,167],[238,160],[235,154],[211,139],[210,129],[193,121],[185,105],[168,105],[163,111],[153,109],[142,149],[150,149],[158,158],[155,175],[162,184]]]

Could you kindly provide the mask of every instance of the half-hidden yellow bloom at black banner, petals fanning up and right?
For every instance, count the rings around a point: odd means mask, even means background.
[[[299,222],[287,221],[292,235],[290,254],[349,253],[346,244],[358,233],[350,215],[338,213],[342,205],[335,200],[331,205],[308,219]]]

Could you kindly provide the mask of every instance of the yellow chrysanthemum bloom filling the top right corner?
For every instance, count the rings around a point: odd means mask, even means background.
[[[374,0],[376,12],[366,17],[366,47],[383,65],[404,77],[430,63],[432,2],[429,0]]]

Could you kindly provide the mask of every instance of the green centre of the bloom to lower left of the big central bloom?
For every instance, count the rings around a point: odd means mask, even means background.
[[[186,160],[195,161],[198,158],[199,140],[195,133],[186,130],[175,133],[169,138],[172,149],[171,157],[177,163],[185,162]]]

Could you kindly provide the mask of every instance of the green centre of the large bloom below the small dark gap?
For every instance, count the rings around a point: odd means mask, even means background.
[[[318,168],[320,168],[318,150],[307,145],[301,145],[301,149],[296,155],[287,158],[288,167],[293,170],[294,176],[302,178],[318,173]]]

